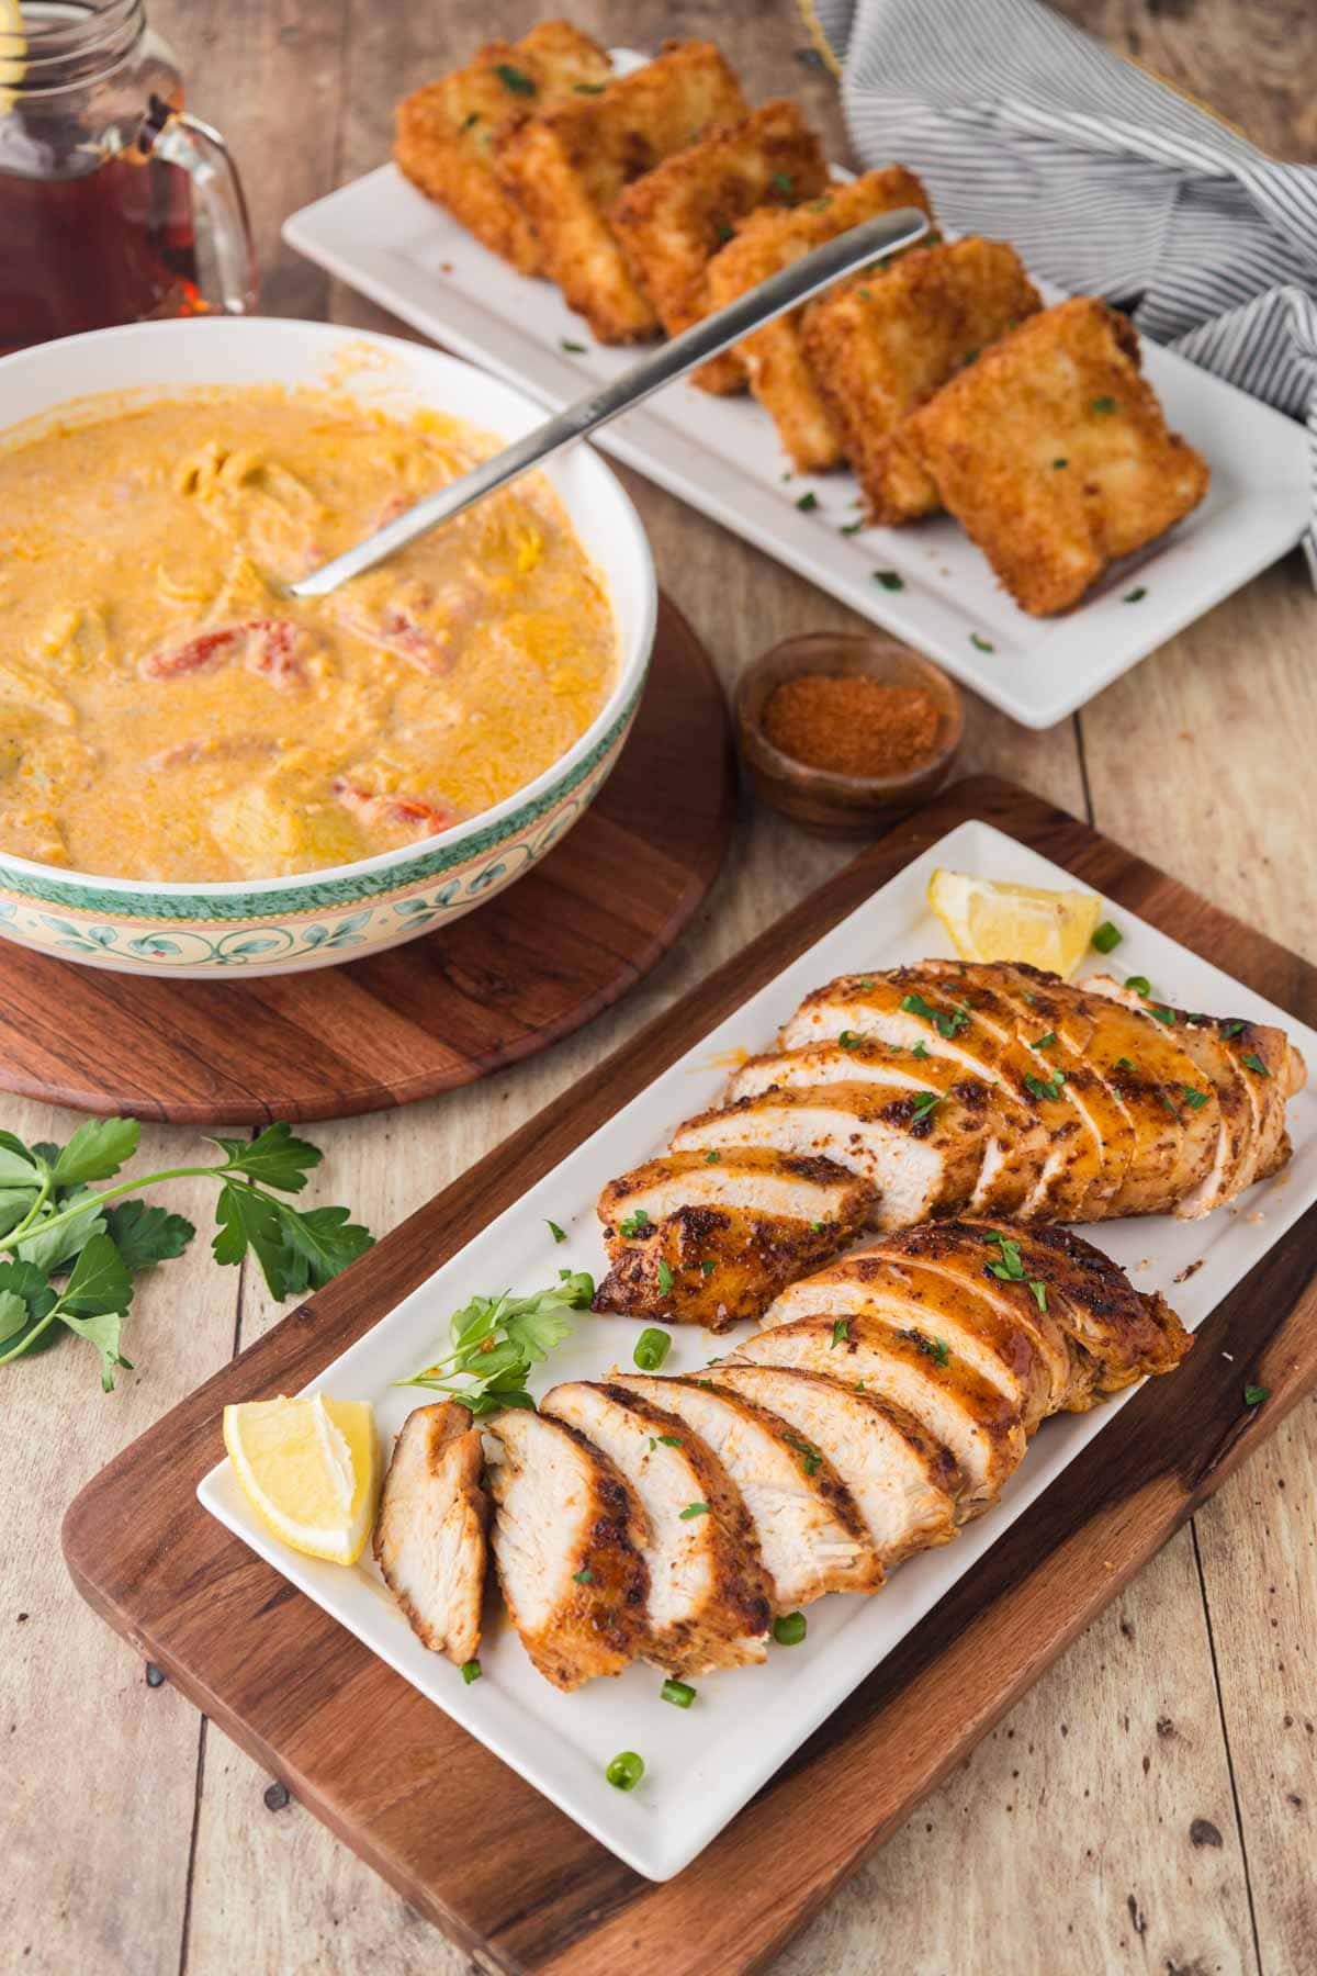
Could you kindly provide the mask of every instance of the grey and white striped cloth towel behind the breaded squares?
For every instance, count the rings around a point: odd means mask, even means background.
[[[804,0],[865,164],[1303,419],[1317,583],[1317,166],[1278,164],[1039,0]]]

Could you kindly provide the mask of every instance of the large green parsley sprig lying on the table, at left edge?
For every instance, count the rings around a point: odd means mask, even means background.
[[[253,1140],[211,1140],[223,1160],[209,1166],[172,1166],[93,1190],[120,1172],[140,1136],[136,1118],[89,1118],[67,1146],[28,1146],[0,1132],[0,1365],[43,1352],[63,1326],[99,1350],[107,1393],[115,1369],[130,1369],[120,1334],[132,1278],[180,1257],[195,1235],[184,1215],[124,1199],[138,1188],[205,1174],[217,1180],[215,1261],[241,1263],[251,1249],[280,1300],[322,1288],[373,1241],[346,1207],[296,1209],[278,1197],[300,1194],[322,1158],[286,1124]]]

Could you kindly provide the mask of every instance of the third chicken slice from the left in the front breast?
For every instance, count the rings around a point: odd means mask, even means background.
[[[764,1660],[772,1581],[740,1492],[705,1442],[620,1385],[555,1385],[541,1411],[586,1435],[640,1504],[644,1658],[679,1676]]]

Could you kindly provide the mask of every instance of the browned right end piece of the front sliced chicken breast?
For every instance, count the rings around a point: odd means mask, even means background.
[[[1163,1296],[1135,1290],[1118,1263],[1068,1229],[942,1221],[875,1247],[892,1261],[973,1282],[1021,1318],[1029,1306],[1039,1312],[1031,1284],[1041,1282],[1045,1314],[1064,1332],[1074,1361],[1070,1391],[1056,1401],[1068,1413],[1147,1373],[1171,1371],[1193,1344]],[[1011,1275],[1013,1257],[1019,1276]]]

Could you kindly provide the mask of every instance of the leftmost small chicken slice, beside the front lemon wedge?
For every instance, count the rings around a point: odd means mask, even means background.
[[[375,1520],[375,1561],[411,1630],[458,1666],[480,1646],[490,1520],[482,1468],[466,1407],[417,1407],[393,1442]]]

